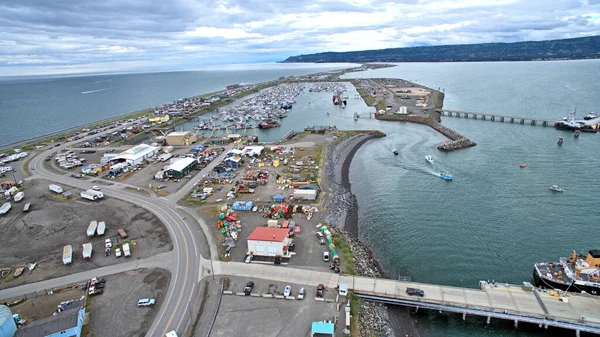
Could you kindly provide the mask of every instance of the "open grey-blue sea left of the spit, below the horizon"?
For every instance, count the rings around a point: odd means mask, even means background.
[[[183,97],[351,67],[350,64],[259,64],[203,71],[26,79],[0,78],[0,146]]]

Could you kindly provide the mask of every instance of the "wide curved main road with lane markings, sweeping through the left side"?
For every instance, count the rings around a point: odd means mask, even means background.
[[[64,147],[51,148],[36,155],[29,163],[29,170],[32,174],[29,179],[47,179],[82,190],[91,188],[88,181],[71,178],[66,174],[58,174],[45,167],[44,159],[53,151],[58,151]],[[182,326],[185,328],[185,323],[190,318],[188,306],[193,308],[195,304],[201,259],[198,250],[198,239],[186,221],[175,212],[173,203],[167,203],[160,198],[151,198],[128,192],[122,188],[123,185],[126,184],[103,186],[102,192],[107,197],[136,204],[154,213],[167,227],[173,240],[171,282],[169,282],[165,301],[162,303],[146,336],[162,337],[171,330],[181,333]]]

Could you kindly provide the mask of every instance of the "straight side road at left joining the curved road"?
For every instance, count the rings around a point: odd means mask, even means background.
[[[92,277],[101,277],[122,273],[129,270],[139,268],[164,268],[170,269],[173,263],[173,252],[166,252],[145,259],[130,260],[123,263],[117,263],[112,266],[96,268],[80,273],[74,273],[63,277],[57,277],[49,280],[44,280],[36,283],[24,284],[22,286],[0,290],[0,300],[7,300],[31,294],[43,290],[52,290],[60,288],[66,284],[83,282]]]

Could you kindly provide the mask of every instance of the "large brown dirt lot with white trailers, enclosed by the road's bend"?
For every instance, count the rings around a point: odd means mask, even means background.
[[[78,189],[66,190],[73,193],[71,200],[64,201],[48,190],[49,181],[34,180],[27,183],[25,199],[8,214],[0,218],[0,268],[24,266],[37,262],[31,273],[24,272],[17,279],[10,276],[0,279],[0,288],[36,282],[68,275],[121,261],[124,258],[104,256],[104,239],[117,242],[117,229],[123,228],[135,241],[132,258],[145,258],[173,249],[167,229],[152,213],[141,207],[120,200],[104,198],[97,202],[81,199]],[[25,202],[31,203],[28,213],[21,211]],[[90,221],[106,222],[106,235],[88,238],[86,229]],[[82,244],[91,242],[93,256],[84,261],[81,257]],[[73,246],[73,263],[63,265],[62,249]],[[14,270],[14,269],[13,269]]]

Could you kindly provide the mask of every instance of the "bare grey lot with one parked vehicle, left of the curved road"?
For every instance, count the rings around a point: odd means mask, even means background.
[[[158,313],[171,274],[165,269],[138,269],[106,277],[102,295],[92,297],[90,331],[95,337],[144,336]],[[152,307],[137,307],[155,298]],[[107,324],[110,323],[110,324]]]

